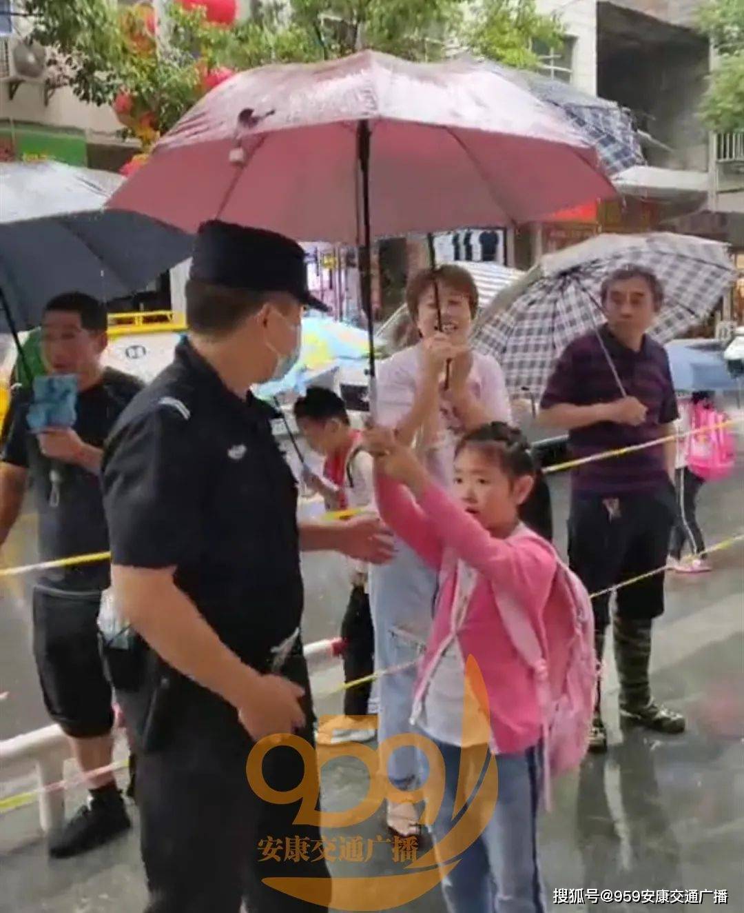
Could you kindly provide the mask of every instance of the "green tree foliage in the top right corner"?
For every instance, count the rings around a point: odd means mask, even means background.
[[[718,66],[702,104],[710,130],[744,130],[744,0],[710,0],[699,13],[699,26],[718,52]]]

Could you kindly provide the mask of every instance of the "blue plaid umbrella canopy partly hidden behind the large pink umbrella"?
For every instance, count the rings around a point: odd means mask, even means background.
[[[646,163],[631,117],[615,101],[599,99],[540,73],[491,66],[569,117],[584,140],[599,153],[608,174]]]

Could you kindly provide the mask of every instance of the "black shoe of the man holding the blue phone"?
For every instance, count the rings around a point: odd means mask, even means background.
[[[87,853],[113,840],[131,827],[124,800],[111,782],[90,791],[86,805],[81,806],[57,834],[49,839],[49,855],[54,859]]]

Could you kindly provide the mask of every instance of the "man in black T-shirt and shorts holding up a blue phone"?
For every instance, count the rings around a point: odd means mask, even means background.
[[[47,305],[42,351],[49,373],[78,377],[72,428],[28,427],[32,396],[16,388],[5,419],[0,458],[0,546],[32,483],[42,561],[109,550],[99,468],[103,442],[141,383],[103,369],[106,309],[71,292]],[[98,651],[98,607],[109,586],[109,563],[43,573],[33,595],[34,655],[49,715],[66,733],[81,771],[111,763],[111,688]],[[129,827],[113,775],[90,779],[90,801],[53,835],[49,852],[76,855]]]

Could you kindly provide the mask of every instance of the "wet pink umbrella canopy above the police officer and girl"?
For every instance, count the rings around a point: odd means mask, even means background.
[[[228,79],[109,205],[187,231],[219,217],[367,245],[530,222],[614,193],[572,123],[489,65],[363,51]]]

